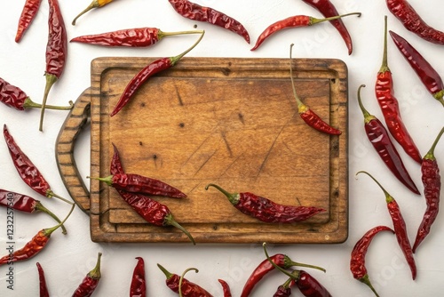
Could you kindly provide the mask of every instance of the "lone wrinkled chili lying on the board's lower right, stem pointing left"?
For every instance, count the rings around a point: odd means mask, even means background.
[[[241,213],[250,215],[259,221],[291,223],[305,221],[317,213],[325,212],[325,209],[314,206],[280,205],[266,197],[260,197],[250,192],[228,193],[213,183],[205,189],[214,187],[224,194],[230,203]]]

